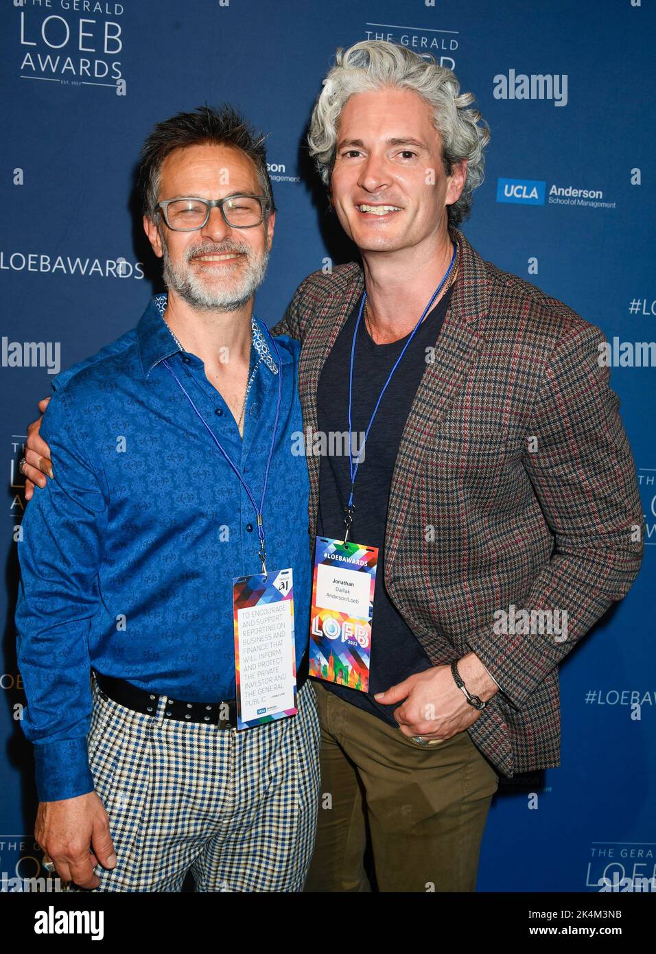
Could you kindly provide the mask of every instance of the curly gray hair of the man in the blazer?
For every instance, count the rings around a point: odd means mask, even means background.
[[[474,189],[483,180],[483,149],[490,140],[489,126],[472,107],[473,93],[461,93],[454,73],[432,56],[420,56],[407,47],[384,40],[363,40],[348,50],[339,49],[335,66],[323,80],[323,90],[312,112],[308,144],[319,175],[326,185],[335,163],[339,115],[354,93],[383,87],[413,90],[433,109],[435,128],[442,139],[442,164],[446,176],[452,163],[467,159],[461,197],[448,206],[449,225],[458,225],[471,210]]]

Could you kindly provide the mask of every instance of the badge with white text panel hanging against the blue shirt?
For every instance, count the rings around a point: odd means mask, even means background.
[[[297,713],[292,570],[233,580],[237,729]]]

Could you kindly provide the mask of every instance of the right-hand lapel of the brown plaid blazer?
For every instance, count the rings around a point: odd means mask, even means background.
[[[385,583],[388,589],[406,526],[405,513],[416,475],[423,467],[426,447],[439,430],[444,411],[465,383],[467,373],[485,341],[477,326],[477,321],[487,314],[484,265],[458,229],[452,229],[451,236],[460,247],[460,272],[436,344],[435,360],[426,364],[403,428],[390,488],[385,535]]]

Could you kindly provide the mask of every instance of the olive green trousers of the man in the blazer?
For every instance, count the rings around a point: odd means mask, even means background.
[[[423,746],[314,683],[321,722],[315,854],[305,891],[475,891],[499,776],[468,732]]]

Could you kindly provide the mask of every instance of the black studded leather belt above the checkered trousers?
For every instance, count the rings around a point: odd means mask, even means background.
[[[166,699],[164,707],[165,719],[176,719],[180,722],[200,722],[202,725],[216,725],[219,729],[236,728],[236,699],[225,699],[221,702],[187,702],[185,699],[174,699],[170,695],[156,695],[146,689],[133,686],[126,679],[117,679],[112,675],[103,675],[94,670],[98,691],[104,698],[113,699],[119,705],[132,709],[133,712],[143,713],[145,716],[154,716],[157,712],[160,698]],[[297,690],[299,690],[308,674],[308,657],[303,657],[297,673]]]

